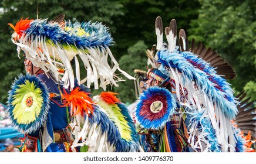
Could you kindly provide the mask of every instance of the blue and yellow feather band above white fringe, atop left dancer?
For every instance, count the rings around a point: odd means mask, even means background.
[[[50,42],[68,44],[78,48],[110,46],[113,43],[108,28],[100,22],[71,23],[66,21],[59,25],[49,23],[48,19],[36,19],[29,25],[24,33],[32,40],[36,36],[43,36],[50,39]]]

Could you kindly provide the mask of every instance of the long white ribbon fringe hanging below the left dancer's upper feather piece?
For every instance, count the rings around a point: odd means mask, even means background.
[[[53,44],[47,42],[46,38],[43,36],[35,36],[35,39],[32,40],[31,43],[26,40],[28,40],[26,36],[22,36],[18,42],[12,39],[12,42],[17,45],[18,54],[23,50],[26,53],[26,57],[31,60],[33,65],[41,67],[46,73],[52,74],[56,82],[60,80],[63,81],[65,88],[72,90],[75,86],[75,75],[70,63],[74,57],[76,78],[78,79],[79,85],[87,81],[87,87],[94,84],[95,89],[102,87],[103,90],[106,90],[106,86],[109,84],[119,87],[117,82],[125,80],[117,77],[117,74],[115,74],[117,70],[130,80],[135,80],[134,77],[120,69],[109,47],[98,46],[86,47],[85,49],[79,49],[76,46],[74,48],[70,45],[63,47],[59,43]],[[76,55],[80,57],[87,70],[87,77],[82,80],[80,79],[80,66]],[[53,59],[51,59],[50,56],[52,56]],[[108,56],[112,60],[113,67],[110,67],[109,63],[107,63]],[[61,60],[63,64],[57,62],[57,59]],[[65,73],[59,72],[57,64],[65,69]],[[100,80],[100,84],[98,84],[98,80]]]

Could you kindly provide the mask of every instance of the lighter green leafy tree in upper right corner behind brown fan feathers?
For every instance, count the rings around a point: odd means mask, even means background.
[[[255,1],[200,0],[198,19],[192,21],[190,37],[210,45],[234,67],[230,83],[236,91],[255,95],[256,38]],[[250,82],[248,82],[250,81]],[[255,97],[252,97],[256,100]]]

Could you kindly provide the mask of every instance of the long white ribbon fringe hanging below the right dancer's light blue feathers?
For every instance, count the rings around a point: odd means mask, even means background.
[[[232,128],[231,120],[225,117],[224,113],[221,112],[217,102],[211,100],[211,98],[204,92],[204,88],[194,87],[194,81],[184,76],[183,73],[179,73],[177,69],[170,67],[170,78],[173,78],[176,86],[177,101],[193,111],[204,111],[204,116],[210,118],[211,124],[215,130],[218,143],[222,145],[223,152],[234,152],[235,151],[235,138],[234,130]],[[197,86],[198,87],[198,86]],[[181,94],[185,94],[185,88],[187,90],[187,98],[184,98],[186,102],[181,101]],[[181,92],[180,92],[181,90]],[[185,111],[189,113],[188,111]],[[188,129],[188,142],[191,147],[200,152],[210,152],[210,143],[206,139],[207,134],[199,132],[197,129],[198,122],[190,124]]]

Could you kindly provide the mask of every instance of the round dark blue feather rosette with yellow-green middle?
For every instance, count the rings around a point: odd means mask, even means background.
[[[26,74],[12,84],[8,97],[8,117],[18,131],[32,133],[46,122],[49,93],[39,78]]]

